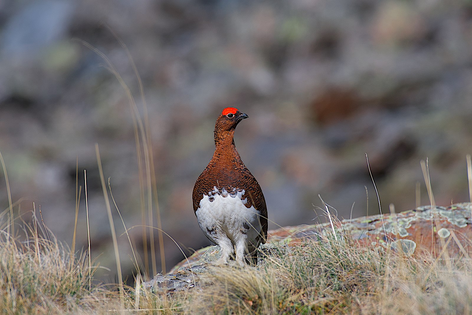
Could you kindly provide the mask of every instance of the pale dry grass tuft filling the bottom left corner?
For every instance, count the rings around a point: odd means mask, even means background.
[[[103,290],[89,286],[86,255],[71,253],[51,231],[49,239],[38,236],[36,226],[24,227],[22,241],[8,235],[6,228],[1,230],[2,312],[64,314],[91,310]],[[95,270],[93,267],[91,276]]]

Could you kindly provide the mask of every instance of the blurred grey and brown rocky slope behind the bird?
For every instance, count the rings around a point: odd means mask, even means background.
[[[279,225],[323,221],[318,194],[340,217],[354,203],[353,217],[378,213],[365,153],[384,212],[390,203],[397,212],[429,203],[426,158],[437,204],[469,200],[470,0],[0,1],[0,152],[20,200],[15,211],[27,220],[33,202],[41,205],[45,224],[70,244],[78,159],[82,187],[87,170],[92,255],[110,268],[101,270],[104,281],[116,280],[116,266],[95,143],[127,227],[142,222],[126,91],[79,41],[109,58],[143,115],[132,63],[113,33],[143,80],[162,226],[185,255],[209,245],[191,192],[227,106],[250,117],[236,145]],[[8,208],[5,180],[0,202]],[[83,193],[78,230],[86,248]],[[143,256],[141,229],[130,234]],[[183,259],[167,237],[165,253],[168,270]]]

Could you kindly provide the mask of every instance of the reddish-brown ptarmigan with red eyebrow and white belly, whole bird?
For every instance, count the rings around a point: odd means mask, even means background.
[[[203,233],[219,245],[217,263],[257,264],[257,248],[267,236],[267,207],[259,183],[246,168],[233,140],[248,116],[225,108],[215,124],[215,153],[195,183],[194,212]]]

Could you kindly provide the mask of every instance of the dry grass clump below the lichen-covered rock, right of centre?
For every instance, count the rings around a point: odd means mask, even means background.
[[[188,314],[471,314],[470,260],[405,257],[343,239],[308,241],[261,270],[215,268]]]

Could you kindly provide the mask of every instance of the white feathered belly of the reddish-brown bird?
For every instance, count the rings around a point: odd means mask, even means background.
[[[223,189],[219,193],[214,187],[200,201],[196,211],[198,224],[208,238],[220,247],[225,246],[228,238],[233,247],[241,243],[244,243],[246,250],[250,245],[259,246],[256,239],[262,230],[261,213],[254,206],[247,208],[247,198],[241,199],[242,195],[244,190],[237,192],[235,189],[228,193]]]

